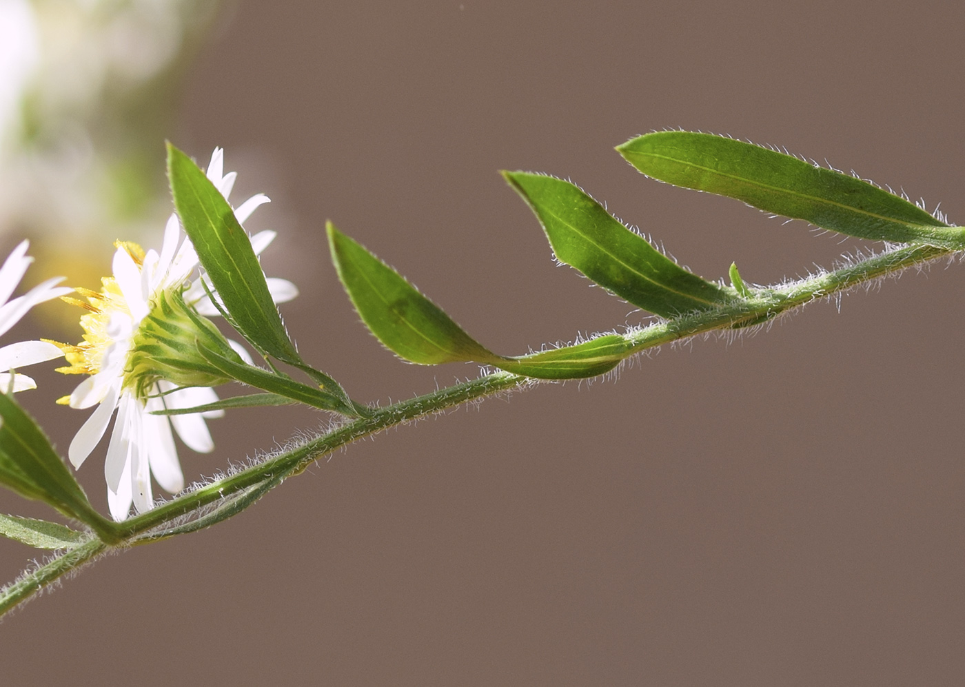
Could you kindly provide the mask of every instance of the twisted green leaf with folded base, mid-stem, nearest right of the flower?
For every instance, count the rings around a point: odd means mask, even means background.
[[[540,379],[592,377],[616,367],[628,344],[602,337],[527,356],[497,355],[470,337],[396,270],[328,224],[339,278],[375,338],[404,360],[421,365],[477,362]]]

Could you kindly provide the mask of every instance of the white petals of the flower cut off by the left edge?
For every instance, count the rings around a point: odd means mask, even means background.
[[[34,261],[27,255],[29,245],[29,241],[21,241],[0,267],[0,336],[10,331],[10,328],[38,303],[63,296],[73,290],[56,286],[64,278],[54,277],[10,300],[27,267]],[[64,351],[47,342],[17,342],[3,346],[0,348],[0,392],[10,389],[14,392],[36,389],[37,384],[33,379],[11,370],[53,360],[62,355]]]

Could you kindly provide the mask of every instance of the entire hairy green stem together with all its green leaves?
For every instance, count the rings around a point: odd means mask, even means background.
[[[866,181],[815,167],[790,155],[683,131],[647,134],[618,150],[654,179],[729,196],[841,234],[908,245],[892,245],[863,260],[772,287],[749,287],[736,264],[731,263],[731,286],[727,287],[723,282],[706,281],[681,268],[572,183],[507,172],[511,187],[536,213],[558,260],[658,316],[647,326],[624,334],[595,335],[578,344],[510,357],[493,353],[469,336],[395,269],[328,224],[332,260],[339,278],[363,322],[382,344],[401,358],[423,365],[475,362],[500,369],[420,397],[368,408],[347,398],[335,380],[310,367],[297,354],[271,300],[250,241],[231,207],[193,162],[169,147],[175,204],[207,277],[224,303],[225,314],[265,360],[270,356],[287,363],[305,372],[315,385],[296,381],[274,367],[265,370],[248,365],[227,344],[194,338],[188,345],[193,345],[200,356],[197,371],[214,371],[215,377],[223,375],[264,393],[160,414],[299,402],[353,419],[290,451],[115,526],[93,511],[40,427],[12,398],[0,395],[0,481],[27,498],[41,499],[82,520],[95,529],[98,537],[85,538],[54,523],[0,516],[2,535],[33,546],[69,549],[0,591],[0,613],[91,560],[106,545],[148,543],[219,522],[248,508],[318,457],[387,427],[526,385],[530,378],[571,379],[603,374],[647,348],[713,330],[753,326],[817,298],[965,250],[961,228],[949,227],[923,209]],[[161,349],[146,351],[153,356],[161,353]],[[184,361],[162,356],[160,363],[167,362],[185,365]]]

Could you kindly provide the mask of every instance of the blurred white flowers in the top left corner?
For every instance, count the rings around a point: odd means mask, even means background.
[[[156,232],[170,206],[153,161],[220,5],[0,0],[0,235],[69,262]]]

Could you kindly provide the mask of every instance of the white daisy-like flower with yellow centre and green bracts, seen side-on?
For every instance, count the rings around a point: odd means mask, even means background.
[[[211,155],[207,178],[227,200],[235,174],[223,174],[221,149]],[[234,216],[243,223],[267,202],[262,194],[253,196],[234,210]],[[70,442],[68,455],[75,468],[94,451],[117,410],[104,477],[111,515],[118,521],[127,517],[131,503],[138,512],[152,508],[152,475],[170,493],[184,488],[172,425],[188,448],[199,453],[214,448],[205,420],[220,417],[224,411],[152,415],[155,410],[214,402],[218,397],[210,387],[229,381],[207,366],[195,342],[214,350],[230,345],[251,362],[240,344],[226,341],[206,319],[218,311],[202,286],[204,275],[193,283],[188,281],[198,266],[198,256],[190,239],[183,238],[179,245],[180,234],[178,217],[173,214],[160,254],[145,252],[134,243],[116,242],[114,275],[101,280],[100,291],[76,289],[86,303],[72,301],[89,311],[80,318],[84,341],[62,344],[70,367],[60,371],[91,376],[59,402],[72,408],[97,406]],[[252,236],[256,254],[274,236],[274,232]],[[286,280],[268,282],[276,303],[298,294]]]

